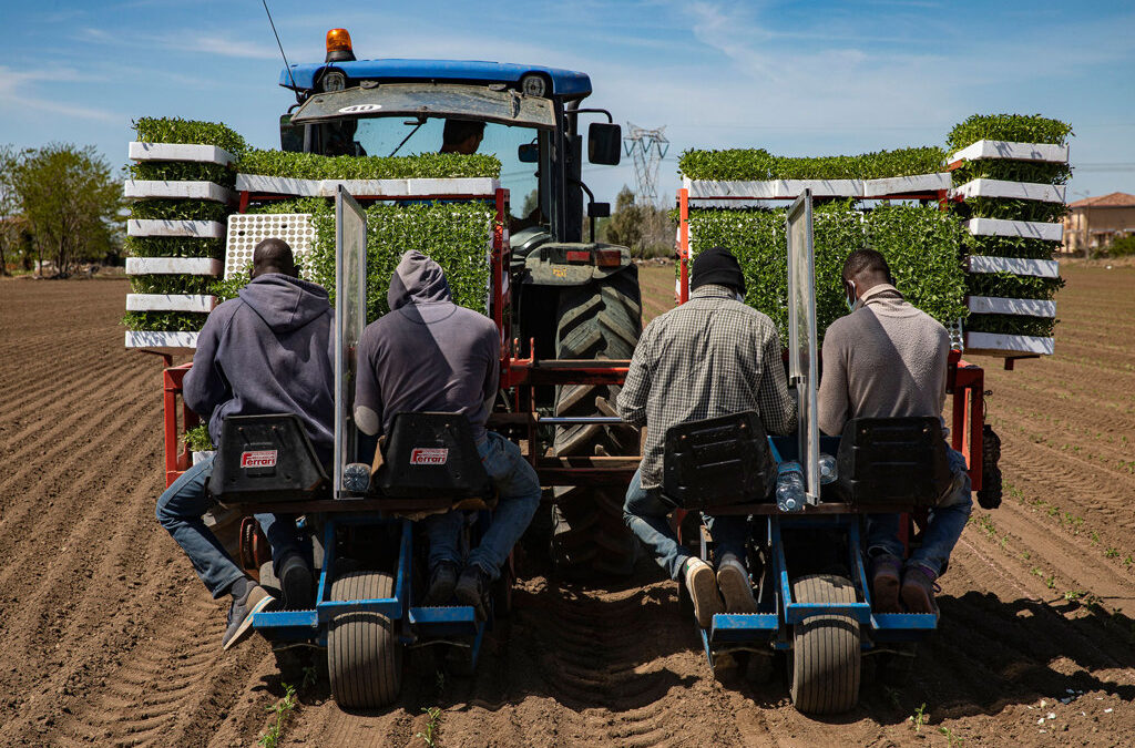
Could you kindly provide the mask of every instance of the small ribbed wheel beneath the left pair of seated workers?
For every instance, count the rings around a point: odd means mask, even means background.
[[[331,585],[333,600],[393,595],[394,578],[385,572],[354,571]],[[378,613],[343,613],[331,619],[327,675],[331,695],[343,708],[377,708],[394,701],[402,688],[402,645],[394,622]]]

